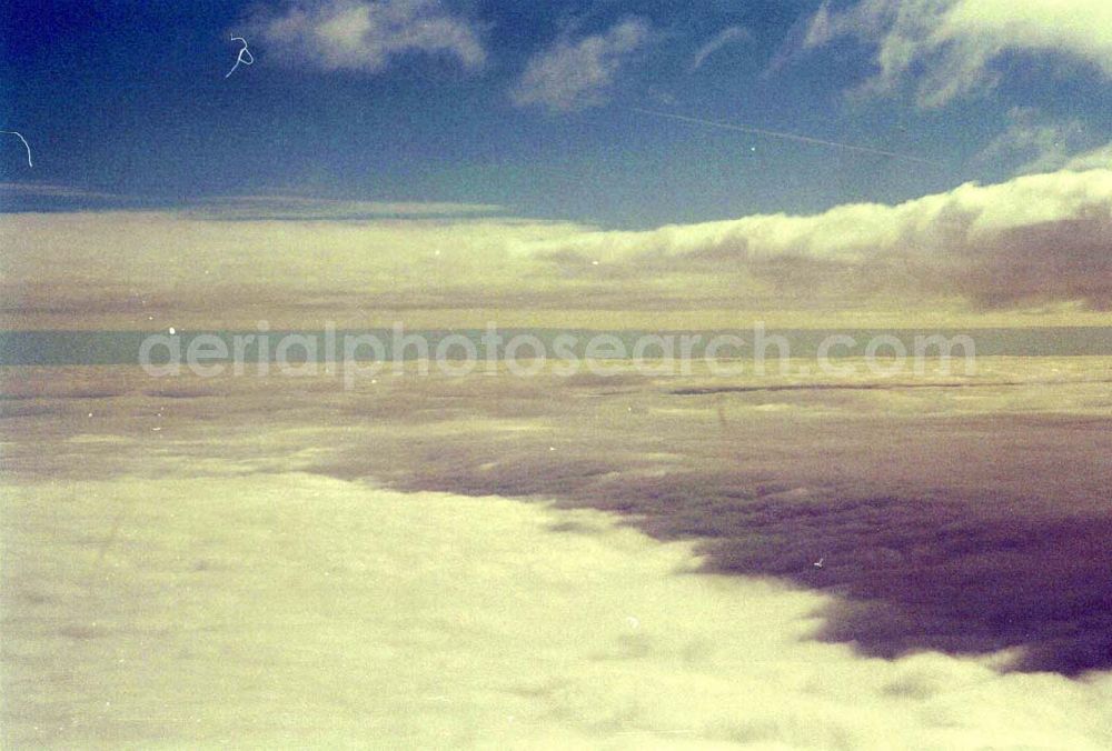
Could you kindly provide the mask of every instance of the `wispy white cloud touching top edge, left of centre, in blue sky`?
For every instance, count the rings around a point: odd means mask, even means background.
[[[294,2],[255,20],[266,44],[324,70],[377,73],[409,53],[439,54],[475,69],[486,60],[477,26],[438,0]]]

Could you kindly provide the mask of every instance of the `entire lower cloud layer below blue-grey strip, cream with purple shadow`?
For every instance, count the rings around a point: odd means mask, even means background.
[[[1050,366],[1094,372],[984,378]],[[1112,743],[1108,672],[994,669],[1108,634],[1098,384],[719,410],[636,377],[364,385],[13,374],[6,745]]]

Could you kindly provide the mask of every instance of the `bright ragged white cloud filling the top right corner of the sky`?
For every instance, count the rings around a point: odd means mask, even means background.
[[[913,80],[923,107],[991,88],[993,63],[1012,52],[1060,53],[1112,78],[1112,4],[1104,0],[862,0],[815,14],[807,47],[840,37],[876,46],[864,89],[891,92]]]

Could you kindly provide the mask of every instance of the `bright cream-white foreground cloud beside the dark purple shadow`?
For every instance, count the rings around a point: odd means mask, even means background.
[[[34,657],[6,671],[14,745],[1110,742],[1108,673],[857,657],[808,639],[828,598],[691,575],[689,544],[602,513],[244,477],[237,441],[143,452],[156,480],[6,489],[4,638]]]

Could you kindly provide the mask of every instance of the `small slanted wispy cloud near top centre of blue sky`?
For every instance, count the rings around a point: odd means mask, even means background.
[[[649,34],[647,21],[632,18],[606,33],[562,38],[528,62],[510,98],[518,107],[536,104],[553,111],[600,106],[622,66]]]

